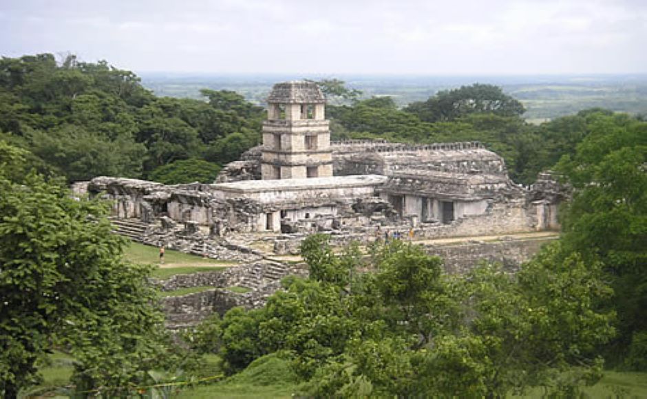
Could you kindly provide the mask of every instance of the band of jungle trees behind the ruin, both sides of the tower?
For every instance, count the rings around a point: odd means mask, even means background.
[[[333,139],[479,140],[505,158],[511,177],[522,184],[573,153],[592,115],[611,114],[582,111],[536,126],[522,119],[518,100],[492,85],[439,91],[399,109],[390,97],[361,100],[361,92],[340,80],[319,83],[329,99]],[[67,56],[57,63],[52,54],[3,58],[0,138],[28,149],[37,170],[68,181],[118,175],[211,182],[220,166],[259,144],[265,112],[233,91],[201,93],[202,100],[156,97],[132,72],[105,61]]]

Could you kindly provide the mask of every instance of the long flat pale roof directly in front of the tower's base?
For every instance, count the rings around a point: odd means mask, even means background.
[[[212,184],[214,190],[255,193],[262,191],[299,191],[317,188],[378,186],[388,180],[382,175],[352,175],[308,177],[306,179],[244,180],[242,182]]]

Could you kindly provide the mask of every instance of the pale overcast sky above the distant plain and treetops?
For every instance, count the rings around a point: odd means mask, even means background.
[[[647,0],[1,0],[0,54],[135,72],[647,72]]]

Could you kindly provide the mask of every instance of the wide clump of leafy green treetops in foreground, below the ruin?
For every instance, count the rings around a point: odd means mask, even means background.
[[[572,394],[600,378],[595,347],[614,330],[596,304],[611,289],[599,263],[562,258],[559,245],[519,274],[484,265],[465,276],[400,241],[368,264],[352,249],[332,255],[320,235],[302,248],[310,279],[286,279],[264,308],[211,319],[195,347],[221,353],[231,372],[286,351],[301,393],[317,397]]]

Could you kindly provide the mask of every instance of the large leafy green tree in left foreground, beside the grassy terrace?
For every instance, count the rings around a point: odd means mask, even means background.
[[[3,158],[13,158],[14,154]],[[37,380],[36,361],[71,349],[83,389],[126,386],[181,364],[163,336],[149,268],[125,263],[106,204],[60,181],[0,169],[0,396]],[[177,367],[177,366],[175,366]]]

